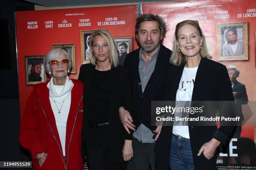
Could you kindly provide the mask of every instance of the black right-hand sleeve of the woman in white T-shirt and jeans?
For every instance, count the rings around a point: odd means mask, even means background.
[[[233,92],[231,88],[231,82],[228,75],[228,70],[224,65],[218,69],[215,74],[215,84],[218,95],[218,101],[230,101],[230,102],[220,102],[219,109],[220,115],[228,115],[230,117],[235,117],[236,106],[233,97]],[[220,128],[216,130],[213,134],[213,138],[220,141],[224,145],[228,143],[228,138],[233,130],[233,125],[222,125],[220,122]]]

